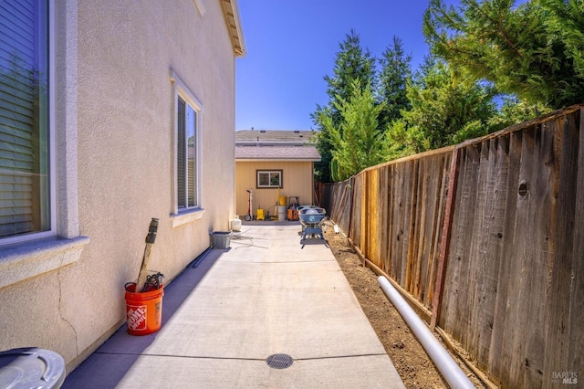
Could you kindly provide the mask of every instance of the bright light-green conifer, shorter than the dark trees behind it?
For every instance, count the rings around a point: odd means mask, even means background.
[[[386,161],[386,134],[378,131],[378,117],[384,103],[377,104],[369,85],[363,89],[360,80],[350,85],[349,99],[339,97],[336,108],[342,117],[339,125],[323,114],[320,122],[328,131],[333,146],[331,175],[342,181],[377,163]]]

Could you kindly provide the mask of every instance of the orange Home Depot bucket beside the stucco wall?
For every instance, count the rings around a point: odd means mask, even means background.
[[[137,293],[136,284],[126,284],[126,323],[130,335],[148,335],[161,329],[164,286]]]

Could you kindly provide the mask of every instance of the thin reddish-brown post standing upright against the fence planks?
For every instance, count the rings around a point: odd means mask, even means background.
[[[456,182],[458,181],[458,170],[460,148],[453,151],[453,158],[450,163],[450,173],[448,175],[448,195],[444,210],[444,223],[442,230],[442,240],[440,242],[440,258],[438,259],[438,271],[436,273],[436,284],[432,300],[432,318],[430,320],[430,331],[434,331],[436,322],[440,317],[440,307],[442,305],[442,287],[444,276],[446,275],[446,262],[448,258],[448,248],[450,247],[450,237],[452,233],[452,220],[454,216],[454,201],[456,200]]]

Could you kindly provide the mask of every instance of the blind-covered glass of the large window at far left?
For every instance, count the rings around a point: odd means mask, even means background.
[[[0,244],[54,234],[48,1],[0,2]]]

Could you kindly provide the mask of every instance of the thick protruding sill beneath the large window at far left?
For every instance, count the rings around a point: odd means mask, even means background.
[[[47,238],[2,248],[0,288],[76,263],[89,237]]]

